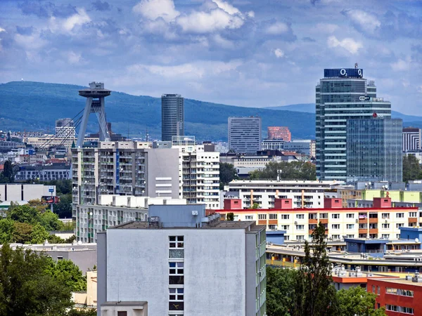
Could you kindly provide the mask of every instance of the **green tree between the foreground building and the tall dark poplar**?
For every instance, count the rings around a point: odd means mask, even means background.
[[[290,316],[298,271],[267,267],[267,315]]]

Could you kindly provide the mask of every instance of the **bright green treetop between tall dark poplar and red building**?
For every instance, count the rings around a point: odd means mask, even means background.
[[[374,309],[376,294],[362,287],[341,289],[337,292],[338,315],[386,316],[384,308]]]

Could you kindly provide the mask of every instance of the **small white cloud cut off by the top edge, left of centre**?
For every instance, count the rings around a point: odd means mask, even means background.
[[[148,20],[162,18],[166,22],[174,20],[180,14],[174,7],[173,0],[142,0],[132,8],[132,11]]]

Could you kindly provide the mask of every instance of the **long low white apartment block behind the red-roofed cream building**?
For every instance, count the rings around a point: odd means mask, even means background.
[[[242,200],[242,208],[257,203],[261,209],[274,208],[274,199],[292,199],[293,207],[324,207],[324,191],[333,181],[310,180],[233,180],[227,195]],[[251,203],[252,199],[252,203]]]

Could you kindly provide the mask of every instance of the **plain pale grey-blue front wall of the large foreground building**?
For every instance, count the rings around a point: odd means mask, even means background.
[[[184,314],[246,315],[245,230],[111,229],[107,235],[107,301],[148,301],[151,315],[168,315],[169,236],[183,235]]]

